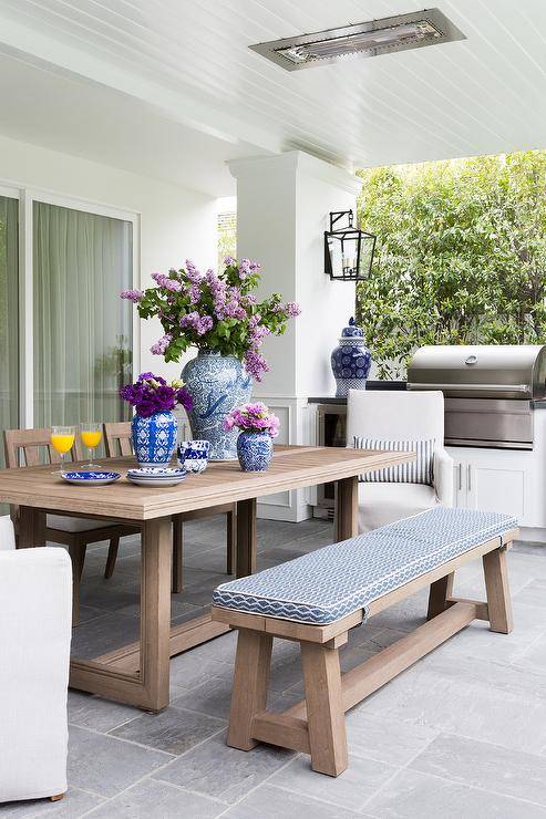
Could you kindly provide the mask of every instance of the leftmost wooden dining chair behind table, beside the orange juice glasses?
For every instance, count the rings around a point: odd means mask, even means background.
[[[4,429],[3,444],[6,466],[17,469],[21,466],[40,466],[45,456],[47,463],[60,464],[61,458],[51,445],[51,429]],[[80,442],[76,438],[71,450],[72,460],[83,460]],[[18,531],[18,508],[11,507],[11,518],[16,532]],[[52,543],[61,543],[69,549],[72,560],[73,603],[72,623],[76,625],[80,615],[80,582],[85,562],[85,551],[89,543],[109,540],[109,563],[115,563],[115,556],[120,538],[125,535],[138,533],[134,526],[111,523],[107,520],[92,520],[72,515],[47,515],[45,539]]]

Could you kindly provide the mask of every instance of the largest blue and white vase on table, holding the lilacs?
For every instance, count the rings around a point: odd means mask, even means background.
[[[235,355],[199,352],[188,361],[182,379],[193,400],[188,412],[193,437],[210,443],[210,460],[236,460],[237,429],[226,432],[224,421],[250,400],[251,377]]]

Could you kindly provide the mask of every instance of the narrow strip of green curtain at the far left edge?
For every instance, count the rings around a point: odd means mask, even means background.
[[[0,196],[0,422],[19,427],[19,201]],[[0,447],[3,466],[3,446]],[[4,511],[2,506],[0,514]]]

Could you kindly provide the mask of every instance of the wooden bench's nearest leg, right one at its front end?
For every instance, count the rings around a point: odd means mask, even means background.
[[[301,643],[311,767],[339,776],[348,765],[341,672],[337,649]]]

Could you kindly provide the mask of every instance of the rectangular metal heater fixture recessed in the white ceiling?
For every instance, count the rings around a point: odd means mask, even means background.
[[[250,49],[287,71],[299,71],[311,65],[338,62],[352,54],[378,56],[465,39],[439,9],[426,9],[313,34],[272,40],[250,45]]]

